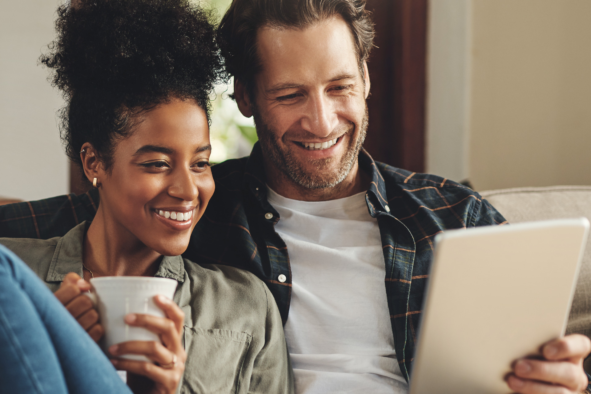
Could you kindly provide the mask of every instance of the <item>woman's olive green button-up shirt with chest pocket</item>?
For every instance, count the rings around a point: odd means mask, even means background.
[[[69,272],[82,276],[87,222],[48,240],[0,238],[55,292]],[[187,362],[179,393],[293,393],[281,316],[255,275],[165,256],[155,276],[178,281]]]

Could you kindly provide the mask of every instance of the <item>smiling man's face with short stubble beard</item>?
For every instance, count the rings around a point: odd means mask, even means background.
[[[339,184],[367,129],[369,79],[348,25],[335,17],[304,30],[267,27],[257,40],[252,113],[265,157],[301,187]]]

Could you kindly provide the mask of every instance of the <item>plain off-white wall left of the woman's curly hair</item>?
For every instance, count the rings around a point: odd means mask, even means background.
[[[56,110],[63,100],[37,66],[54,38],[56,0],[0,0],[0,196],[64,194],[69,164]]]

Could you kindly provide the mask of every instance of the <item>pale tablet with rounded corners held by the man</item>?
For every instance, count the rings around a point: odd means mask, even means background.
[[[564,335],[589,221],[437,235],[411,394],[505,394],[511,363]]]

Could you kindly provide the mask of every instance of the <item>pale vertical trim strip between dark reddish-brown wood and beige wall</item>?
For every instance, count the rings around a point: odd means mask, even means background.
[[[427,172],[469,175],[470,0],[431,0],[427,41]]]

